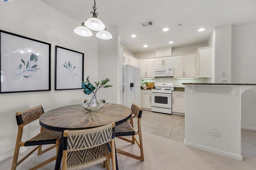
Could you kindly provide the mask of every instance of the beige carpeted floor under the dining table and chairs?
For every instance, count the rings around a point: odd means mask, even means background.
[[[255,170],[256,169],[256,131],[242,130],[242,155],[244,161],[234,160],[192,147],[183,143],[143,133],[145,161],[140,162],[118,154],[120,170]],[[116,147],[129,152],[139,153],[138,147],[116,139]],[[26,154],[22,152],[20,156]],[[50,158],[55,150],[36,156],[32,154],[22,162],[17,170],[27,170],[40,161]],[[12,158],[0,162],[1,170],[11,167]],[[40,170],[52,170],[54,162],[40,168]],[[88,168],[88,170],[100,170],[102,164]]]

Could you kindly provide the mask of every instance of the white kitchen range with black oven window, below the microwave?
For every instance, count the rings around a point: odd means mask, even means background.
[[[173,83],[156,83],[151,90],[151,111],[172,114]]]

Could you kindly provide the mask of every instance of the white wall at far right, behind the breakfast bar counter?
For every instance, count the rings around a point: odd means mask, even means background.
[[[232,83],[256,83],[256,25],[232,29]],[[256,88],[242,94],[242,128],[256,130]]]

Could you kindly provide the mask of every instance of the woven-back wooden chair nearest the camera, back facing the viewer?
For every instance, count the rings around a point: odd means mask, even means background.
[[[63,134],[63,170],[84,169],[100,162],[106,162],[110,170],[116,170],[115,158],[115,123],[96,127],[69,131]]]

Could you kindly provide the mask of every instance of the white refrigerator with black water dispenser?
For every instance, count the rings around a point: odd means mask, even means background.
[[[132,103],[136,103],[140,106],[140,68],[124,65],[123,82],[123,105],[131,108]]]

